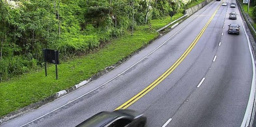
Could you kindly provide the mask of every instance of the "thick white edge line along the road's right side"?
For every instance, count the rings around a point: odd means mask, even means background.
[[[240,13],[240,11],[238,10],[237,7],[236,7],[236,9],[239,13],[240,20],[242,22],[242,26],[243,26],[243,29],[244,29],[244,32],[245,32],[245,35],[246,35],[246,38],[247,38],[248,47],[249,47],[250,54],[251,54],[251,63],[252,63],[252,72],[253,72],[252,81],[251,81],[251,91],[250,91],[247,107],[246,107],[246,110],[245,110],[245,115],[244,115],[243,121],[242,121],[241,126],[240,126],[240,127],[245,127],[245,126],[249,126],[249,121],[250,120],[248,120],[248,119],[250,119],[249,115],[251,115],[252,108],[253,108],[254,97],[255,97],[255,61],[254,61],[254,56],[253,56],[252,49],[251,49],[249,36],[246,33],[244,22],[242,21],[241,13]]]

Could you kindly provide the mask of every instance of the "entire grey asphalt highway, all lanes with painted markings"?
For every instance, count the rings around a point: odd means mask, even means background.
[[[143,113],[147,127],[240,126],[253,63],[240,15],[228,19],[238,9],[220,4],[209,3],[88,85],[0,126],[74,127],[119,108]],[[227,33],[230,23],[241,26],[240,35]]]

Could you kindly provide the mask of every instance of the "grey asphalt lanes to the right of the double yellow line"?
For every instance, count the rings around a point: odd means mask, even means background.
[[[149,117],[148,126],[159,126],[170,118],[168,126],[240,126],[250,94],[252,63],[240,17],[225,20],[232,11],[239,13],[236,8],[220,7],[202,38],[170,78],[129,107],[142,110]],[[230,23],[241,25],[240,35],[228,35]],[[182,77],[174,77],[183,70]],[[173,82],[173,78],[178,81]]]

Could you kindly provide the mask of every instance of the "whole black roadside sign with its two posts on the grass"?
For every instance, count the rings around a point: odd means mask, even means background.
[[[58,79],[58,68],[57,65],[60,64],[59,60],[59,51],[51,49],[43,49],[44,55],[44,67],[45,67],[45,76],[47,76],[47,62],[55,64],[56,80]]]

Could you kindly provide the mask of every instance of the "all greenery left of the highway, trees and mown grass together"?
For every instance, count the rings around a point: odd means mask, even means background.
[[[171,0],[0,1],[1,80],[41,69],[42,48],[72,57],[58,66],[58,80],[49,66],[47,77],[42,70],[0,82],[0,116],[78,84],[146,46],[158,36],[154,30],[170,22],[168,11],[179,10],[172,21],[183,15],[181,2]]]

